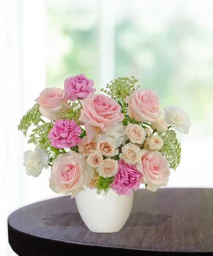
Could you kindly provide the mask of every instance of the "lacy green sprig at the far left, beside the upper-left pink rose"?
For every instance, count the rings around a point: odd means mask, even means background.
[[[39,104],[36,103],[29,111],[24,115],[18,125],[18,131],[21,130],[22,133],[26,136],[28,128],[34,124],[38,125],[38,122],[44,122],[41,119],[42,114],[39,111]]]

